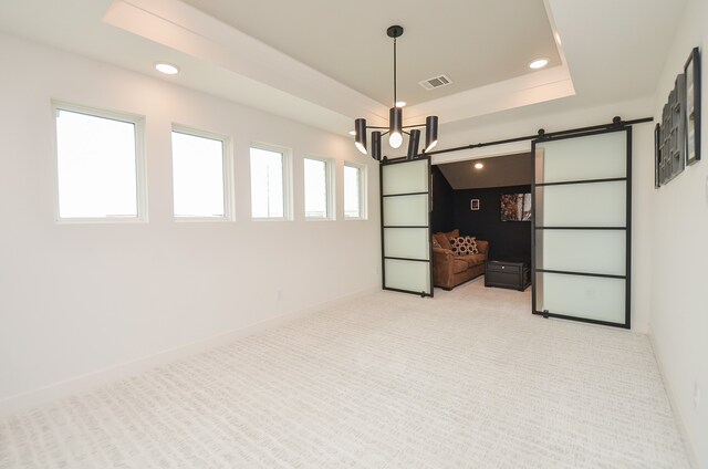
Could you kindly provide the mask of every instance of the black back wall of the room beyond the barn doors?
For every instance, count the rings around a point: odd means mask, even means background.
[[[499,205],[499,196],[502,194],[530,191],[531,186],[454,190],[452,222],[440,222],[440,226],[459,228],[462,236],[475,236],[478,239],[488,240],[490,259],[530,261],[531,222],[501,221]],[[470,210],[471,199],[479,199],[479,210]],[[435,231],[449,231],[449,229]]]

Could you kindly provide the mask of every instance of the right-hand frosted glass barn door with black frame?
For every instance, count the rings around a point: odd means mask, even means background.
[[[629,327],[632,129],[537,140],[533,313]]]

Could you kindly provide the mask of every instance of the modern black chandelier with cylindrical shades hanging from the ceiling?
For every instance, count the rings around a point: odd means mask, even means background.
[[[368,153],[366,146],[366,132],[372,132],[372,158],[381,160],[381,137],[388,134],[388,145],[392,148],[399,148],[403,145],[403,135],[407,134],[408,153],[406,157],[414,159],[418,156],[418,146],[420,143],[420,127],[425,127],[425,149],[424,154],[430,152],[438,143],[438,116],[428,116],[425,124],[403,125],[403,103],[397,101],[396,96],[396,40],[403,35],[403,27],[393,25],[386,30],[386,34],[394,40],[394,102],[393,107],[388,111],[388,127],[367,126],[365,118],[354,121],[354,144],[364,155]],[[405,129],[409,128],[410,132]],[[385,131],[382,133],[382,131]]]

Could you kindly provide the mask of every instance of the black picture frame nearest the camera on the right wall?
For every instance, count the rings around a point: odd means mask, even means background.
[[[700,160],[700,51],[694,48],[684,66],[686,77],[686,105],[684,119],[686,123],[686,165]]]

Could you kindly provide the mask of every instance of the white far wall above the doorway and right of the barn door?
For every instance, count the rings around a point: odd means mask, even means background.
[[[546,132],[565,131],[597,124],[608,124],[615,115],[629,121],[652,116],[652,100],[631,101],[592,108],[559,112],[555,105],[534,106],[520,112],[509,113],[509,119],[503,122],[503,115],[494,118],[493,125],[473,125],[470,129],[446,132],[447,147],[464,146],[466,144],[493,142],[518,136],[535,135],[539,128]],[[633,126],[632,133],[632,330],[646,333],[649,323],[649,293],[652,249],[648,236],[650,228],[649,199],[654,189],[654,124],[638,124]],[[441,137],[442,138],[442,137]],[[492,146],[440,154],[434,157],[434,163],[448,163],[460,158],[479,158],[488,155],[530,152],[530,142],[514,143],[503,146]]]

